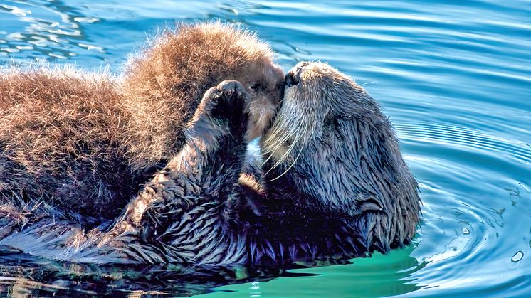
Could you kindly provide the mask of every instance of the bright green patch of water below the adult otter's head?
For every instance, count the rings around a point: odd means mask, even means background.
[[[410,257],[414,245],[379,253],[370,258],[351,260],[352,264],[290,270],[306,274],[297,278],[277,278],[269,282],[232,284],[214,289],[209,297],[386,297],[414,293],[421,289],[411,274],[422,270],[426,262]]]

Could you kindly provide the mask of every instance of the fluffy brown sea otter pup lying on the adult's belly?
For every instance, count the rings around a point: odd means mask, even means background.
[[[71,67],[0,71],[0,238],[63,215],[114,219],[183,144],[204,92],[236,79],[262,134],[284,74],[256,34],[223,23],[179,25],[133,55],[125,72]]]

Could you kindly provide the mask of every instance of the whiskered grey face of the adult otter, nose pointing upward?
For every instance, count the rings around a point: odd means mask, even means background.
[[[326,63],[301,62],[285,76],[284,98],[262,146],[279,166],[294,160],[298,145],[330,144],[334,129],[351,124],[340,120],[370,117],[374,112],[379,112],[376,102],[346,75]]]

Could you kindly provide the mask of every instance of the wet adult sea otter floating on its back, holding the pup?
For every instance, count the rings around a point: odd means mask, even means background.
[[[70,262],[253,266],[363,257],[411,240],[417,184],[362,87],[323,63],[290,70],[261,169],[246,162],[250,98],[234,80],[209,89],[182,150],[110,227],[85,233],[47,218],[0,245]]]

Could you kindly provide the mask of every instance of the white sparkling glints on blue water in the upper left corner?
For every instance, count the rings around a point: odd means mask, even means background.
[[[105,48],[90,43],[84,23],[99,18],[84,16],[62,1],[14,1],[0,4],[0,55],[20,53],[26,58],[68,59],[84,50],[105,54]],[[3,60],[6,63],[9,60]],[[28,60],[20,60],[27,63]],[[18,61],[17,61],[18,62]]]

